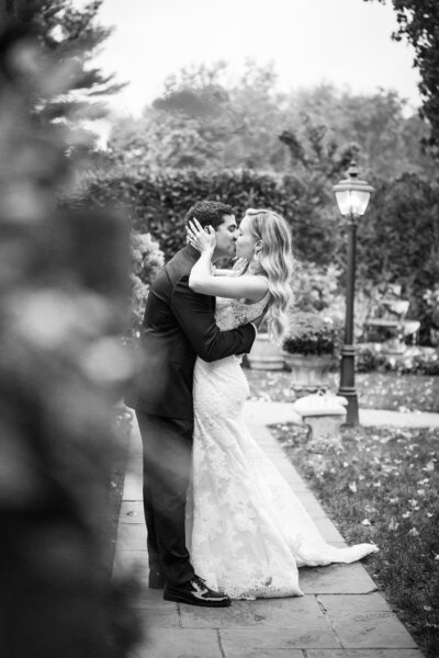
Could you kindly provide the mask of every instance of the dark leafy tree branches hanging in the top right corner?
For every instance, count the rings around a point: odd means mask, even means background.
[[[371,2],[373,0],[364,0]],[[386,0],[378,0],[385,4]],[[423,98],[420,115],[431,126],[424,144],[439,157],[439,3],[436,0],[392,0],[398,29],[392,38],[405,38],[415,49],[414,66],[419,70]]]

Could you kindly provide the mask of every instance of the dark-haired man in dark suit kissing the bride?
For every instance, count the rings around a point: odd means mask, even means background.
[[[196,218],[216,234],[214,260],[235,256],[237,225],[230,206],[214,201],[193,205]],[[200,253],[187,245],[150,286],[142,329],[145,366],[134,406],[144,445],[144,509],[148,532],[149,587],[165,587],[164,599],[193,605],[226,606],[228,597],[206,587],[185,546],[185,498],[191,474],[196,356],[212,362],[249,352],[256,327],[221,331],[215,298],[191,291],[189,274]]]

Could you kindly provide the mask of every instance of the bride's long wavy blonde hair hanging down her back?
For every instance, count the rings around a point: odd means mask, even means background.
[[[268,279],[270,292],[267,314],[270,338],[280,343],[288,330],[286,309],[292,303],[293,251],[291,230],[273,211],[249,208],[245,215],[260,250],[251,266]]]

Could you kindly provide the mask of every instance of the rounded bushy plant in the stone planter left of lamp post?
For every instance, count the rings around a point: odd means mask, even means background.
[[[290,316],[283,349],[292,354],[336,354],[340,338],[338,320],[322,314],[295,311]]]

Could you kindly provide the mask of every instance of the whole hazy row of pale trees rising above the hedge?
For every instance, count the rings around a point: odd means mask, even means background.
[[[305,158],[319,160],[320,167],[326,159],[331,177],[334,158],[339,160],[340,149],[352,143],[361,145],[364,173],[429,173],[431,160],[419,148],[419,139],[428,135],[426,122],[416,115],[406,118],[404,105],[393,91],[353,94],[327,84],[280,93],[272,67],[249,61],[234,80],[219,63],[170,77],[139,120],[117,123],[110,147],[116,162],[140,174],[164,168],[281,173]],[[292,135],[304,149],[294,161]]]

